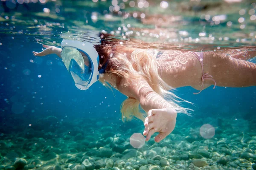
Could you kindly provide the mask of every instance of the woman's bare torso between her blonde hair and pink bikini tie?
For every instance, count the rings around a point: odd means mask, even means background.
[[[157,58],[160,77],[173,88],[192,86],[201,90],[202,69],[198,59],[188,52],[166,50]]]

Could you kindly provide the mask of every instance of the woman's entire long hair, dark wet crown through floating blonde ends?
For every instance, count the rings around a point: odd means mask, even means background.
[[[148,82],[151,88],[168,101],[177,113],[189,114],[191,109],[183,108],[178,105],[180,102],[187,102],[171,92],[173,88],[166,84],[158,74],[158,63],[156,61],[157,51],[152,49],[134,48],[131,56],[128,54],[119,53],[119,49],[125,51],[126,45],[134,43],[133,40],[122,41],[112,37],[110,34],[100,34],[101,44],[96,45],[96,51],[100,56],[100,65],[106,64],[106,72],[111,76],[116,76],[121,79],[126,79],[127,84],[131,84],[134,80],[144,79]],[[140,40],[136,40],[138,43]],[[123,45],[120,45],[122,42]],[[143,43],[143,42],[142,42]],[[145,47],[145,45],[144,45]],[[105,83],[104,79],[100,79],[102,83]],[[107,84],[107,83],[105,83]],[[190,103],[190,102],[189,102]],[[140,102],[132,97],[128,97],[122,102],[121,105],[122,121],[130,121],[134,117],[141,119],[143,122],[147,116],[140,107]]]

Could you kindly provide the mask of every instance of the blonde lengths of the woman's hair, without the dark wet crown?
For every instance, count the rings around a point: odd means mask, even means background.
[[[173,88],[166,84],[158,74],[158,63],[156,50],[136,49],[131,56],[115,53],[109,59],[110,74],[124,78],[126,85],[131,84],[133,80],[144,79],[148,82],[154,92],[162,96],[169,102],[177,113],[189,114],[192,109],[183,108],[178,103],[188,102],[176,96],[170,90]],[[102,81],[102,80],[101,80]],[[191,102],[188,102],[191,103]],[[121,105],[122,121],[130,121],[134,117],[144,122],[147,114],[140,108],[140,102],[132,97],[128,97]]]

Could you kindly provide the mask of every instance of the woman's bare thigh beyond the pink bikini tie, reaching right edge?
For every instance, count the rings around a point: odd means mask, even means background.
[[[248,87],[256,85],[256,64],[233,58],[233,56],[205,52],[204,72],[212,75],[217,86]],[[212,81],[206,80],[204,83],[207,87],[212,84]]]

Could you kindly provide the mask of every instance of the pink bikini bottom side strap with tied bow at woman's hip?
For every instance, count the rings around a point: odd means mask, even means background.
[[[204,74],[204,65],[203,65],[204,52],[194,52],[194,51],[188,51],[188,52],[191,53],[191,54],[193,54],[193,55],[195,55],[195,57],[199,60],[199,62],[200,62],[200,64],[201,64],[201,67],[202,67],[202,74],[203,74],[203,76],[202,76],[202,78],[201,78],[201,80],[202,80],[202,84],[201,84],[202,89],[201,89],[201,91],[204,90],[204,80],[205,80],[205,79],[212,80],[212,81],[214,82],[214,84],[215,84],[214,87],[213,87],[213,89],[215,89],[215,86],[216,86],[215,80],[212,79],[212,76],[209,75],[208,73]],[[201,91],[199,91],[198,93],[193,93],[193,94],[200,94]]]

